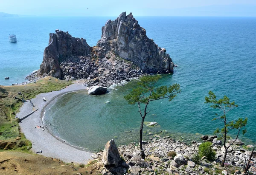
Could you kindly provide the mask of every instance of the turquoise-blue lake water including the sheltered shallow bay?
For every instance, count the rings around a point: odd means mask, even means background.
[[[92,46],[99,40],[101,26],[109,18],[115,17],[0,19],[0,26],[4,26],[0,28],[0,84],[7,85],[14,79],[20,81],[39,68],[49,32],[55,28],[69,31],[74,37],[84,37]],[[255,143],[256,18],[136,19],[146,29],[148,37],[166,48],[175,64],[179,65],[173,75],[161,79],[160,85],[179,83],[182,90],[172,102],[151,105],[152,111],[146,121],[157,121],[160,126],[156,129],[146,127],[145,131],[162,131],[163,135],[167,131],[177,137],[190,133],[191,138],[195,133],[212,134],[219,126],[217,121],[211,121],[216,111],[204,104],[204,97],[212,90],[217,97],[227,95],[239,104],[229,117],[247,116],[248,132],[244,139]],[[16,44],[8,42],[9,33],[17,35]],[[10,76],[9,82],[3,79],[4,76]],[[137,107],[128,105],[123,99],[132,87],[134,83],[111,90],[104,96],[69,93],[58,98],[57,103],[47,110],[45,120],[52,124],[50,130],[54,134],[70,144],[90,150],[104,147],[111,138],[115,138],[118,144],[137,141],[140,126]],[[105,103],[107,100],[110,103]]]

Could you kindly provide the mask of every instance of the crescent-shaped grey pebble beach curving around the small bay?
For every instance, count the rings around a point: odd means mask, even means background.
[[[42,117],[47,105],[57,97],[77,90],[86,90],[86,87],[82,85],[81,81],[75,81],[74,84],[69,85],[62,90],[38,94],[31,100],[39,110],[20,122],[20,128],[26,138],[32,142],[33,152],[42,150],[42,153],[39,154],[46,157],[58,158],[64,162],[87,164],[88,161],[93,159],[91,157],[93,153],[84,151],[79,147],[64,142],[61,138],[52,135],[47,127],[44,127],[45,130],[36,127],[37,125],[44,126]],[[44,97],[47,99],[47,102],[43,102]],[[17,114],[17,117],[21,118],[26,116],[34,110],[33,108],[34,107],[32,107],[30,102],[25,102],[22,107],[20,107],[20,112]]]

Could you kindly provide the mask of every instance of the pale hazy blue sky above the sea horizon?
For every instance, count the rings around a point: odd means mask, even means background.
[[[88,8],[88,9],[87,9]],[[256,0],[0,0],[0,11],[38,16],[254,16]]]

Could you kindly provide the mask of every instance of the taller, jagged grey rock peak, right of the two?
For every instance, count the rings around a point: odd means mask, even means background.
[[[130,13],[108,20],[102,27],[102,38],[97,42],[96,54],[107,57],[109,52],[133,62],[144,72],[173,73],[173,62],[165,48],[158,47],[146,36],[146,30]]]

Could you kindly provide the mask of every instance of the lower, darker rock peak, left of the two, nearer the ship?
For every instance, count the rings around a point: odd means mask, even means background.
[[[49,45],[44,49],[43,62],[40,65],[39,74],[47,73],[56,78],[64,78],[59,61],[68,56],[90,56],[91,47],[83,38],[75,38],[64,31],[56,30],[49,34]]]

